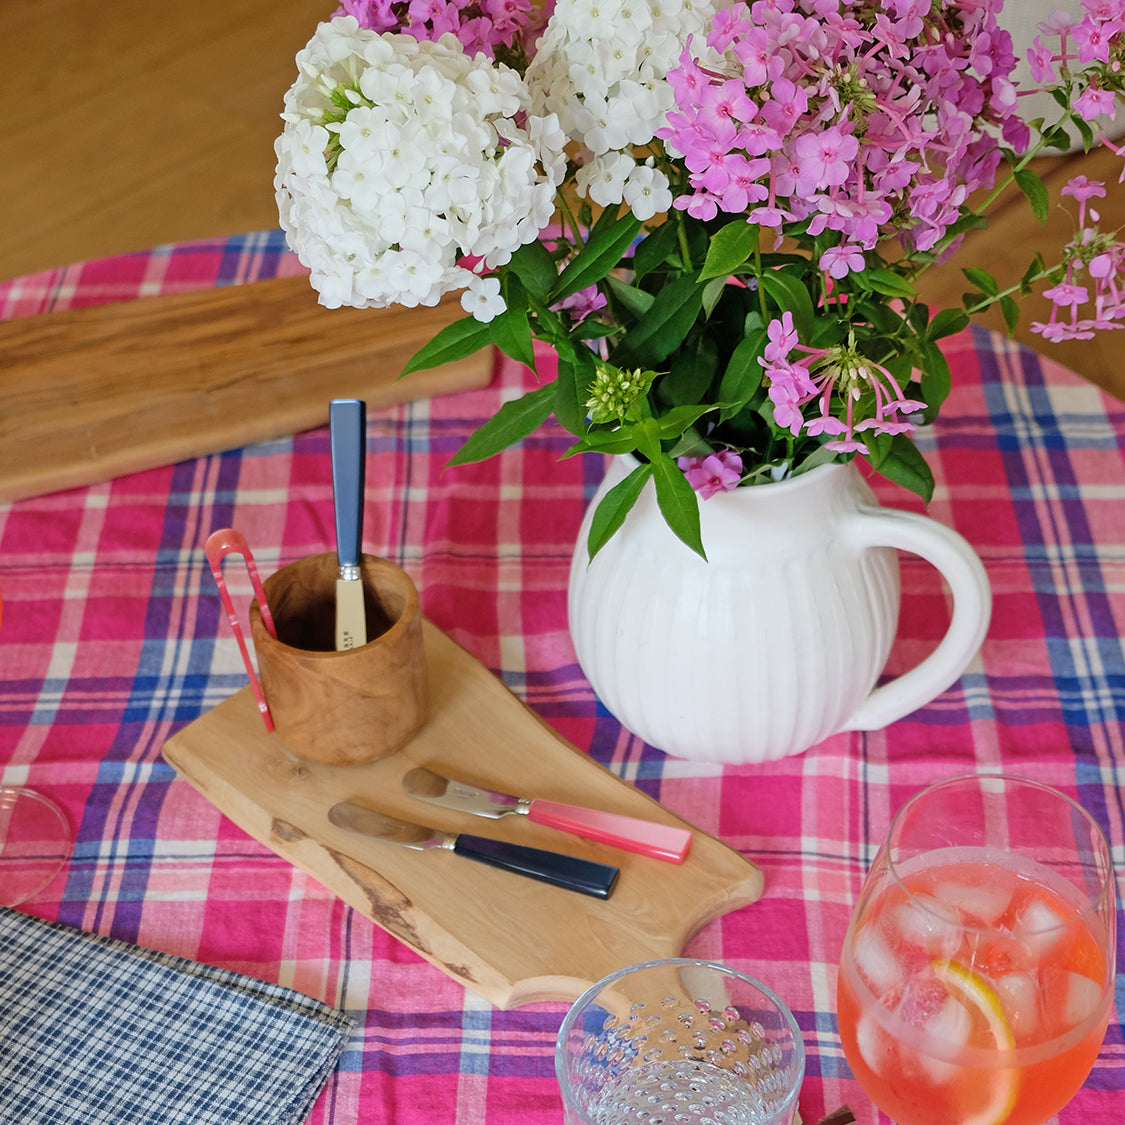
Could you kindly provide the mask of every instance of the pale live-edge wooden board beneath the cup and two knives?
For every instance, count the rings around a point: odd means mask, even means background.
[[[407,796],[403,775],[426,765],[521,796],[685,824],[559,737],[429,621],[425,646],[426,724],[374,765],[334,768],[294,757],[267,734],[249,687],[170,738],[164,757],[255,839],[502,1008],[574,1000],[623,965],[678,956],[705,921],[760,898],[758,867],[699,829],[676,865],[524,817],[486,820]],[[611,863],[621,875],[601,901],[452,852],[399,848],[333,826],[327,811],[341,800]]]

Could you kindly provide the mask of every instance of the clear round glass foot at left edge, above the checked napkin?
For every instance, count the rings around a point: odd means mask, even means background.
[[[0,906],[19,906],[42,891],[72,845],[66,816],[51,798],[22,785],[0,785]]]

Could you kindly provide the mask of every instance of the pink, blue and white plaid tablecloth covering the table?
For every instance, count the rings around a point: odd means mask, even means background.
[[[277,233],[162,248],[9,282],[0,316],[279,271],[295,264]],[[426,614],[565,737],[763,867],[765,897],[686,952],[762,978],[794,1010],[809,1122],[842,1102],[880,1120],[839,1048],[836,960],[863,873],[910,794],[974,768],[1028,775],[1080,800],[1125,858],[1125,406],[982,331],[947,352],[954,390],[925,438],[929,514],[988,569],[983,650],[886,730],[759,766],[654,750],[576,666],[565,590],[598,459],[559,461],[567,439],[548,430],[443,469],[524,372],[369,415],[367,550],[402,564]],[[884,503],[917,507],[876,487]],[[359,1029],[314,1125],[556,1125],[558,1005],[492,1008],[250,839],[162,759],[170,735],[245,683],[202,552],[227,525],[266,574],[330,549],[326,431],[0,507],[0,781],[50,793],[78,837],[65,873],[24,909],[346,1009]],[[891,670],[944,630],[934,573],[903,557],[902,587]],[[1123,1064],[1115,1019],[1059,1120],[1117,1125]]]

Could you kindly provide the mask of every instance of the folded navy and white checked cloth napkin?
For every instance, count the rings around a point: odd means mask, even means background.
[[[298,1125],[351,1026],[278,984],[0,909],[0,1122]]]

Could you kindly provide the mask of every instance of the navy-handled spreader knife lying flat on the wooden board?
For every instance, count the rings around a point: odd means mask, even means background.
[[[387,816],[354,801],[340,801],[328,809],[328,820],[338,828],[368,836],[372,839],[422,852],[426,848],[446,848],[466,860],[511,871],[528,879],[538,879],[554,886],[561,886],[595,899],[608,899],[620,874],[619,868],[606,863],[595,863],[579,856],[542,848],[510,844],[488,836],[465,832],[443,832],[425,825]]]

